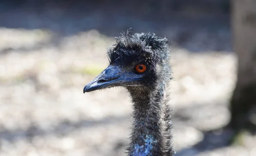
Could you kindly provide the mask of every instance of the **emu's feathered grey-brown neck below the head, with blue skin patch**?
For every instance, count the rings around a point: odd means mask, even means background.
[[[154,91],[131,88],[128,90],[131,93],[134,108],[133,131],[131,144],[128,147],[129,156],[166,156],[167,144],[164,137],[167,136],[163,129],[168,130],[171,126],[166,128],[164,119],[165,84],[158,85]]]

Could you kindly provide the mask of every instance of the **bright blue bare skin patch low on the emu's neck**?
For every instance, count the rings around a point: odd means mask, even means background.
[[[144,144],[134,144],[134,151],[132,152],[131,156],[153,156],[152,149],[157,141],[153,136],[148,134],[141,135],[140,137],[144,140]]]

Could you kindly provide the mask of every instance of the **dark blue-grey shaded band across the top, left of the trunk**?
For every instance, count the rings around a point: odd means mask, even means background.
[[[132,27],[192,52],[231,51],[228,0],[12,0],[0,10],[0,27],[47,29],[55,44],[91,29],[115,37]]]

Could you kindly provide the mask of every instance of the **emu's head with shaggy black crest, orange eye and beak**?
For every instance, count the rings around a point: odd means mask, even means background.
[[[84,92],[117,86],[154,90],[158,82],[169,81],[167,42],[151,33],[123,34],[108,49],[109,66],[84,87]]]

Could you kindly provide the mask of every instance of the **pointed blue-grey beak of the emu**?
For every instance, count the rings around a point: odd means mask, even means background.
[[[108,66],[84,87],[84,93],[107,87],[119,86],[119,84],[123,82],[121,73],[119,66]]]

